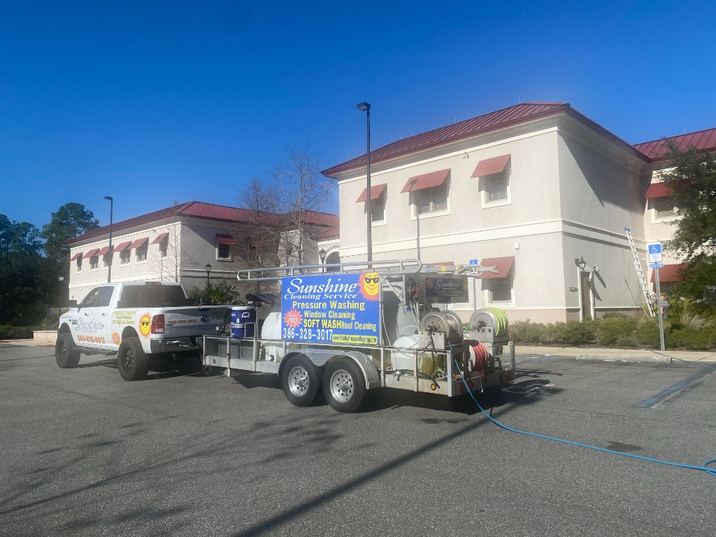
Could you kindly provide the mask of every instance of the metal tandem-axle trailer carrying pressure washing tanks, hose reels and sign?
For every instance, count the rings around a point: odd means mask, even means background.
[[[311,405],[322,389],[339,412],[354,412],[377,388],[456,397],[465,383],[480,391],[511,382],[515,349],[504,312],[477,309],[464,324],[450,309],[468,303],[470,278],[495,267],[421,269],[420,261],[395,260],[239,271],[242,282],[280,282],[281,296],[247,295],[256,317],[232,329],[243,337],[205,336],[203,364],[229,377],[278,374],[296,406]]]

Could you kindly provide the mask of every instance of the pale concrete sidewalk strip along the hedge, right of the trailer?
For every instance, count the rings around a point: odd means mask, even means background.
[[[668,364],[670,357],[689,362],[716,362],[716,352],[708,351],[649,351],[642,349],[595,349],[591,347],[527,347],[515,346],[516,354],[538,354],[540,356],[569,356],[578,360],[609,360],[611,362],[656,362]],[[658,353],[658,354],[657,354]],[[678,363],[677,360],[674,362]]]

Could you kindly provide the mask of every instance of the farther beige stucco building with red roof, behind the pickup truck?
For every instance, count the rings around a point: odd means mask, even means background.
[[[204,286],[207,279],[236,281],[236,271],[246,268],[247,259],[261,260],[262,247],[266,258],[282,255],[271,241],[261,243],[251,236],[255,219],[246,209],[190,201],[114,223],[112,253],[109,226],[84,233],[65,243],[70,251],[69,299],[82,300],[107,281],[110,256],[112,281],[179,281],[185,289]],[[261,213],[261,221],[281,231],[276,242],[288,251],[293,241],[284,238],[295,231],[285,229],[286,219]],[[308,233],[301,241],[303,256],[318,264],[323,243],[317,236],[335,228],[338,218],[306,211],[305,221]]]

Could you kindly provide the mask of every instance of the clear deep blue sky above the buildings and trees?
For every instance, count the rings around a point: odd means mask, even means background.
[[[291,147],[328,167],[524,101],[637,143],[716,126],[713,1],[0,1],[0,213],[236,205]],[[337,212],[337,195],[326,205]]]

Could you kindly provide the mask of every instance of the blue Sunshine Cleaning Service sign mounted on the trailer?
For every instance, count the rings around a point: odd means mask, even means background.
[[[281,279],[281,337],[294,342],[377,345],[380,276],[318,274]]]

